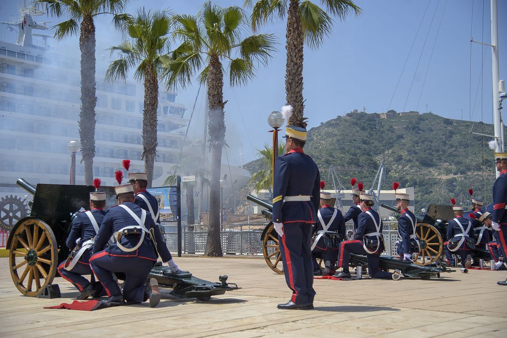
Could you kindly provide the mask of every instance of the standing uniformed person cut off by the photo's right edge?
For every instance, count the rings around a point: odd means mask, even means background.
[[[507,213],[505,202],[507,202],[507,153],[495,153],[496,170],[500,176],[493,184],[493,218],[492,227],[498,231],[498,238],[507,252]],[[505,281],[498,282],[499,285],[507,285]]]

